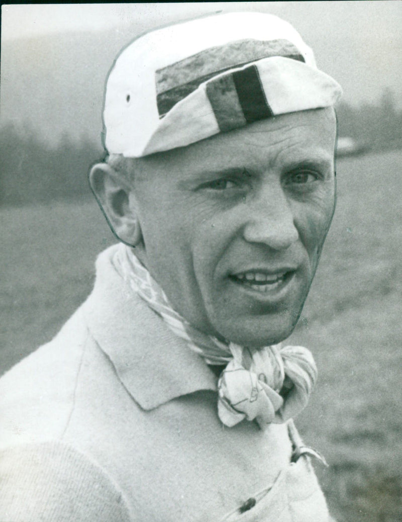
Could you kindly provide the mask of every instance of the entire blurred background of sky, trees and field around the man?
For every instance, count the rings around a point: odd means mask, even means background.
[[[238,2],[2,6],[0,372],[50,340],[115,242],[87,172],[103,157],[104,82],[156,26],[215,11],[278,15],[344,89],[338,205],[291,341],[319,384],[297,419],[339,522],[402,520],[402,3]]]

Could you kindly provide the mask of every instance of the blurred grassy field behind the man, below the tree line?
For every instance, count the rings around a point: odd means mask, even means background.
[[[330,464],[317,472],[339,522],[402,520],[400,162],[400,151],[338,162],[337,211],[291,339],[318,363],[297,423]],[[95,256],[114,238],[92,201],[6,208],[0,219],[3,372],[86,298]]]

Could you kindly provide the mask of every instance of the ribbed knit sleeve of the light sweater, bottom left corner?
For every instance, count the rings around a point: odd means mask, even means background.
[[[132,520],[113,479],[64,443],[24,444],[3,450],[0,477],[0,520]]]

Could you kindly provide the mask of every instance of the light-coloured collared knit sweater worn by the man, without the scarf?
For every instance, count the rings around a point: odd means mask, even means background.
[[[0,379],[0,520],[327,522],[287,425],[223,426],[215,374],[113,252],[60,333]]]

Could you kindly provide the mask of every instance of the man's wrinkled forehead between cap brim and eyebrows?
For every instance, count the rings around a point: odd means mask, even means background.
[[[198,143],[140,158],[140,171],[189,176],[228,165],[264,166],[291,161],[332,161],[336,117],[332,108],[300,111],[261,120]]]

